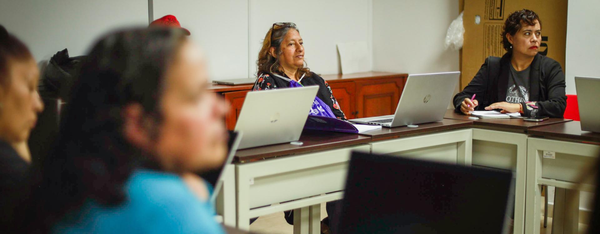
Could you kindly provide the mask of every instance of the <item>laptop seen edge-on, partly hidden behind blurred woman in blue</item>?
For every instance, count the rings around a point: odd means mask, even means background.
[[[227,168],[232,167],[231,162],[233,161],[233,156],[235,156],[235,151],[238,150],[239,142],[242,140],[241,132],[229,132],[229,142],[227,142],[227,157],[223,162],[223,166],[219,168],[212,169],[210,171],[202,172],[200,177],[202,177],[206,182],[211,184],[213,187],[213,193],[211,195],[211,202],[215,202],[217,199],[218,193],[223,187],[223,172],[227,170]]]

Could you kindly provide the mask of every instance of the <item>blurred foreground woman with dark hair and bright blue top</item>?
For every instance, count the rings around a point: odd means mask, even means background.
[[[194,172],[226,154],[226,105],[181,29],[101,38],[82,65],[54,151],[34,166],[17,232],[223,233]],[[29,222],[29,223],[28,223]]]

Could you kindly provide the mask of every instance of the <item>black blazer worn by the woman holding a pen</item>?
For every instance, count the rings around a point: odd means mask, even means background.
[[[488,57],[473,80],[464,87],[463,92],[454,96],[454,107],[461,113],[460,105],[465,98],[476,94],[479,105],[475,110],[503,102],[506,99],[506,88],[510,74],[511,54],[506,53],[502,58]],[[550,57],[536,54],[530,65],[529,101],[522,102],[524,116],[549,116],[562,118],[565,114],[565,74],[560,63]],[[536,106],[538,108],[532,108]]]

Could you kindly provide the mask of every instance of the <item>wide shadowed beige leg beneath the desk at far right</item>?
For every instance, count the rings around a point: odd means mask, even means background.
[[[555,193],[552,233],[579,233],[579,191],[557,187]]]

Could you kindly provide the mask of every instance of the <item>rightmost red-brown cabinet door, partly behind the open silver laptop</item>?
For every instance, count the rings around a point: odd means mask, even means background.
[[[404,77],[365,79],[356,82],[356,117],[394,114],[404,89]]]

